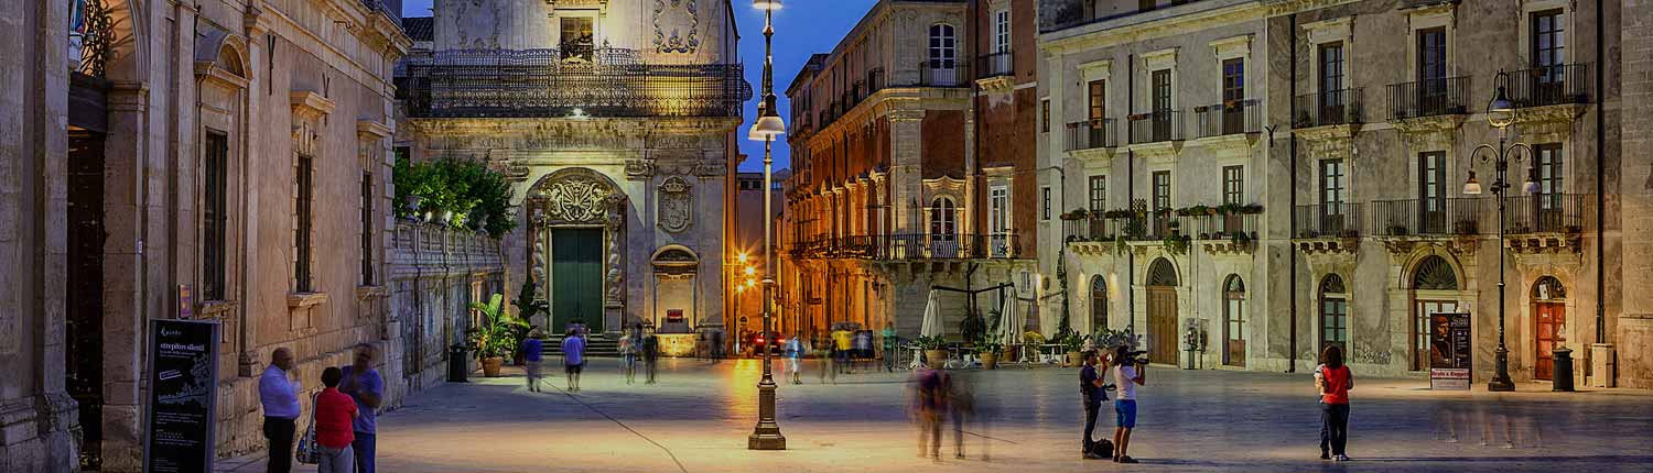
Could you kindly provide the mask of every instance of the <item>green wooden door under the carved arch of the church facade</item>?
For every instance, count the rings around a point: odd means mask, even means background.
[[[550,326],[567,330],[580,318],[603,330],[603,229],[550,231]]]

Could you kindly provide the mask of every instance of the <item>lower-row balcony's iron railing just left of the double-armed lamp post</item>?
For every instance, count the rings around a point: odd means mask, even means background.
[[[1473,236],[1496,231],[1483,226],[1489,199],[1438,198],[1372,201],[1372,224],[1379,236]]]

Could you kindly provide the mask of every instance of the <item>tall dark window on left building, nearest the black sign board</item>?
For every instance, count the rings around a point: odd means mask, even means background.
[[[230,138],[220,132],[207,132],[205,147],[202,158],[202,298],[225,300]]]

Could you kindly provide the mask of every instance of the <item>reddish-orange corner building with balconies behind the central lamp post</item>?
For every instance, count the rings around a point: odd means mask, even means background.
[[[886,0],[792,81],[780,300],[797,333],[912,338],[934,287],[1013,283],[984,315],[1033,297],[1033,2]],[[965,307],[942,297],[952,338]]]

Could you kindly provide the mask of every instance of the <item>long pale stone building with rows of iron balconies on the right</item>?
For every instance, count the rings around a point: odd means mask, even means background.
[[[1184,366],[1308,369],[1341,344],[1362,372],[1423,376],[1428,316],[1470,313],[1476,382],[1503,270],[1517,382],[1551,379],[1567,346],[1592,384],[1646,386],[1646,318],[1627,313],[1648,305],[1627,285],[1645,262],[1620,267],[1630,76],[1602,56],[1622,7],[1481,3],[1041,2],[1040,160],[1063,170],[1041,183],[1084,211],[1041,239],[1066,254],[1041,270],[1065,272],[1076,320]],[[1532,147],[1509,165],[1503,241],[1499,198],[1465,193],[1496,178],[1471,160],[1499,140],[1496,86]]]

